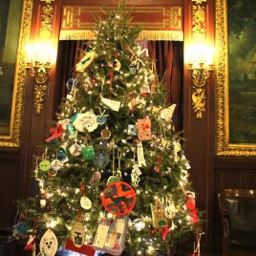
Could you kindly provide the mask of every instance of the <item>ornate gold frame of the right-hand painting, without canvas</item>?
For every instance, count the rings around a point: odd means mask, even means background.
[[[256,144],[229,142],[227,0],[216,0],[215,3],[216,154],[220,157],[255,157]]]

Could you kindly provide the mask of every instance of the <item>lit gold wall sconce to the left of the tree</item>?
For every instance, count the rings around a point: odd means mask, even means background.
[[[33,105],[37,115],[40,115],[43,109],[47,80],[51,70],[52,53],[53,48],[50,44],[37,43],[33,46],[27,46],[27,65],[25,70],[27,75],[34,78]]]

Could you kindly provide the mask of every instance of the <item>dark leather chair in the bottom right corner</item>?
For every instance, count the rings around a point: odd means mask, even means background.
[[[256,255],[256,190],[224,189],[218,199],[223,255]]]

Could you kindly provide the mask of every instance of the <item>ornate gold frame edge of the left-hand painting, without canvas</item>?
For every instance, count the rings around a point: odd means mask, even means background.
[[[25,56],[26,45],[30,40],[32,24],[32,0],[23,0],[22,18],[20,22],[19,42],[14,69],[12,96],[10,103],[10,123],[8,133],[1,133],[0,147],[19,147],[22,124],[24,90],[25,90]],[[1,127],[0,127],[1,128]]]

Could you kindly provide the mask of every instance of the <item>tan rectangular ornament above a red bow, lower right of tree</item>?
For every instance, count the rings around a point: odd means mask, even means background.
[[[167,219],[164,214],[164,205],[161,203],[156,203],[156,205],[150,203],[152,222],[155,228],[161,228],[167,225]]]

